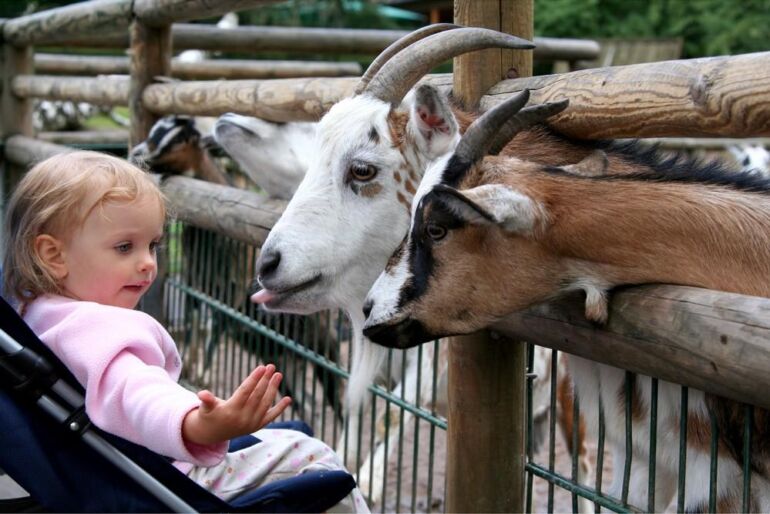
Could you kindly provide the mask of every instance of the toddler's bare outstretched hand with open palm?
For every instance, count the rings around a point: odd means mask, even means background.
[[[273,405],[282,378],[268,364],[257,366],[228,400],[200,391],[201,405],[185,416],[182,437],[191,443],[215,444],[256,432],[291,404],[291,398],[285,397]]]

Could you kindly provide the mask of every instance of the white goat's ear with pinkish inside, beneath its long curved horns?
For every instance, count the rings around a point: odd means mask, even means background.
[[[417,145],[429,159],[454,149],[459,130],[447,97],[423,84],[412,96],[409,126]]]

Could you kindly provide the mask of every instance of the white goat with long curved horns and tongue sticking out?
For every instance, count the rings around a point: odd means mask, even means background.
[[[452,32],[430,35],[447,28]],[[386,49],[362,78],[357,95],[334,105],[321,120],[316,155],[265,242],[258,263],[264,289],[253,300],[268,310],[309,313],[342,308],[350,316],[355,340],[348,397],[353,412],[382,371],[387,355],[360,336],[366,291],[408,230],[410,201],[425,168],[456,143],[457,122],[447,98],[429,86],[407,91],[432,66],[452,55],[489,46],[529,46],[485,29],[443,25],[426,30]],[[410,48],[401,52],[405,47]],[[420,60],[421,53],[433,55]],[[469,122],[467,115],[460,119],[461,126]],[[530,132],[506,152],[529,155],[532,141],[549,137],[542,131]],[[427,370],[432,358],[423,356]],[[416,371],[417,361],[416,354],[409,354],[410,370]],[[417,374],[409,372],[406,383],[393,394],[403,390],[411,403],[430,398],[431,380],[423,379],[420,391],[416,383]],[[408,417],[406,413],[404,423]],[[368,461],[358,476],[359,486],[374,501],[385,478],[385,448],[396,447],[398,430],[391,429],[391,434],[389,444],[375,451],[372,483]],[[582,462],[588,466],[585,459]],[[586,469],[584,476],[587,473]]]

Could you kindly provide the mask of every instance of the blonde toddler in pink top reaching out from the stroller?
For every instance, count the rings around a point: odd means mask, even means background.
[[[8,205],[5,294],[86,389],[99,428],[172,457],[224,500],[312,469],[342,469],[320,440],[263,427],[282,376],[258,366],[229,399],[177,380],[181,360],[166,330],[134,310],[157,273],[164,198],[149,175],[96,152],[51,157],[30,170]],[[228,441],[261,440],[227,453]],[[368,512],[358,489],[335,509]]]

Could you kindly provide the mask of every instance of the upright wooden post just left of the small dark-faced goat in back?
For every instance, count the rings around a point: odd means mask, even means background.
[[[171,76],[171,26],[149,27],[139,20],[131,23],[130,71],[131,84],[128,108],[131,111],[131,128],[128,147],[143,141],[158,116],[142,105],[144,88],[157,76]],[[162,254],[161,254],[162,255]],[[159,256],[158,278],[142,300],[142,310],[167,325],[163,314],[163,289],[168,263]]]

